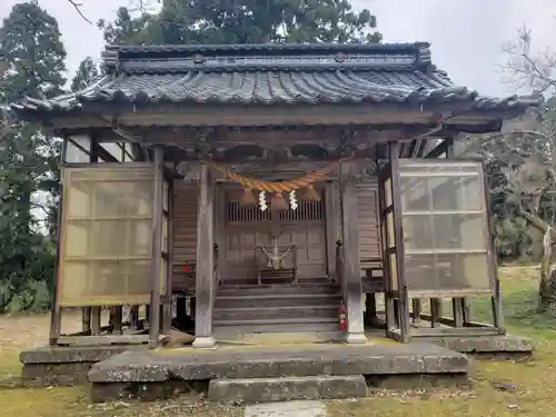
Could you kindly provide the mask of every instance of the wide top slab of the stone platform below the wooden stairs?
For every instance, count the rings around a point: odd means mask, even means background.
[[[306,376],[466,374],[470,359],[434,344],[190,348],[126,351],[91,367],[91,383],[157,383]]]

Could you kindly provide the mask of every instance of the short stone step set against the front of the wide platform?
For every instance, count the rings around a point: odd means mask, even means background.
[[[212,379],[208,389],[209,400],[225,404],[341,399],[365,396],[367,396],[367,385],[363,375]]]

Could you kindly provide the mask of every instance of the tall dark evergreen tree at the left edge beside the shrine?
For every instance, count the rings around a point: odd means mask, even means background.
[[[12,8],[0,27],[0,102],[62,91],[66,51],[58,23],[36,2]],[[43,226],[57,195],[58,158],[59,143],[30,123],[11,126],[0,142],[0,310],[49,299],[53,254]]]

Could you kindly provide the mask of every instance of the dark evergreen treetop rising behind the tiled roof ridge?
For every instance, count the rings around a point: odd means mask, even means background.
[[[159,13],[120,8],[108,43],[379,42],[376,18],[349,0],[165,0]]]

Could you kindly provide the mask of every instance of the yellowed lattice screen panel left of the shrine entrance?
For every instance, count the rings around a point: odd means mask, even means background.
[[[67,168],[62,176],[60,306],[148,304],[153,169]]]

